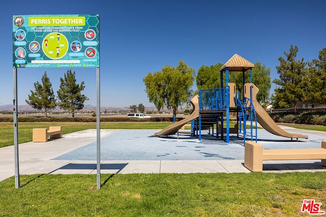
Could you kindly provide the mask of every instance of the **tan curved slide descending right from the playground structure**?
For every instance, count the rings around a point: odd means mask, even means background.
[[[250,87],[252,88],[252,102],[256,111],[257,121],[261,125],[262,128],[264,128],[266,131],[268,131],[271,134],[287,137],[287,138],[304,138],[308,139],[308,136],[302,135],[302,134],[292,134],[288,133],[284,130],[282,130],[275,122],[274,120],[268,115],[268,113],[261,107],[261,105],[258,103],[256,99],[256,95],[258,94],[258,87],[256,87],[253,83],[246,83],[244,84],[244,96],[250,99]]]

